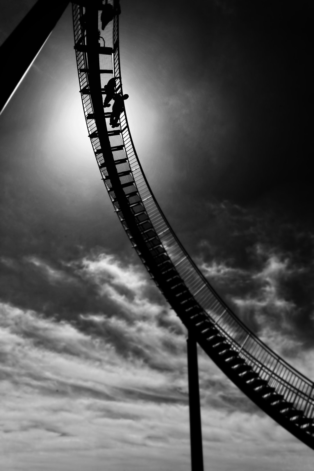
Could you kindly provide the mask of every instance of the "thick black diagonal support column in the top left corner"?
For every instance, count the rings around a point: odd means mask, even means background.
[[[38,0],[0,47],[0,114],[68,6],[68,0]]]

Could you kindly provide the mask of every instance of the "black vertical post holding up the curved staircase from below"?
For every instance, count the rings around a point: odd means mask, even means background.
[[[203,471],[204,465],[201,438],[201,403],[197,363],[197,343],[190,331],[188,332],[186,342],[190,406],[191,469],[192,471]]]

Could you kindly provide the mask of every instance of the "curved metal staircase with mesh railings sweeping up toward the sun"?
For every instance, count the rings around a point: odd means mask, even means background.
[[[114,210],[201,348],[266,414],[314,449],[314,383],[258,339],[220,298],[162,213],[138,160],[125,111],[118,127],[109,124],[112,107],[103,107],[109,79],[116,79],[116,92],[122,94],[119,17],[116,11],[102,31],[101,8],[97,0],[73,3],[74,49],[89,138]]]

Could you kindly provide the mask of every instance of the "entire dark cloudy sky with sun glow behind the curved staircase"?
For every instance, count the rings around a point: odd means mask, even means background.
[[[0,0],[0,42],[33,4]],[[311,380],[313,10],[121,0],[120,16],[130,131],[162,210]],[[1,470],[189,470],[186,331],[100,180],[70,7],[0,115],[0,162]],[[313,469],[201,349],[199,370],[205,470]]]

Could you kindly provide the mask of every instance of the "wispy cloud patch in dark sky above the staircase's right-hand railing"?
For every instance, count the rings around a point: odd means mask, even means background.
[[[250,257],[251,264],[245,269],[235,260],[198,261],[209,282],[225,293],[227,303],[242,321],[288,363],[313,379],[313,341],[307,342],[303,335],[313,329],[312,305],[304,308],[295,296],[309,268],[292,253],[265,244],[256,244]],[[304,319],[307,323],[302,325]],[[238,402],[242,410],[252,410],[242,398],[233,398],[232,390],[225,400]]]

